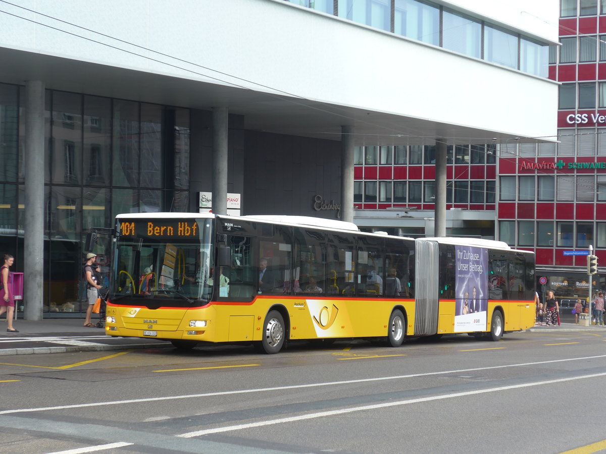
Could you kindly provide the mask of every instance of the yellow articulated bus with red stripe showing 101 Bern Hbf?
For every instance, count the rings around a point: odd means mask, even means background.
[[[534,255],[491,240],[411,239],[301,216],[116,217],[105,332],[189,349],[467,333],[534,324]]]

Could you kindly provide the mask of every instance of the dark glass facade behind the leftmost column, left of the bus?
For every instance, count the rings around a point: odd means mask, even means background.
[[[0,251],[22,263],[24,87],[0,84]],[[81,312],[90,227],[121,212],[187,211],[190,113],[45,92],[44,310]],[[16,253],[15,253],[16,251]],[[101,259],[102,267],[109,264]]]

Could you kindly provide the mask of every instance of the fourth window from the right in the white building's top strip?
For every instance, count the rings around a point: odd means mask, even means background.
[[[416,0],[396,0],[394,14],[395,33],[439,45],[439,8]]]

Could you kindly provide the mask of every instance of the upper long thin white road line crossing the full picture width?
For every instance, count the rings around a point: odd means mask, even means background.
[[[256,388],[256,389],[239,389],[234,391],[218,391],[218,392],[207,392],[201,394],[188,394],[179,396],[162,396],[162,397],[148,397],[144,399],[128,399],[128,400],[117,400],[107,402],[92,402],[88,404],[74,404],[74,405],[61,405],[56,407],[38,407],[30,409],[14,409],[14,410],[2,410],[0,415],[8,415],[10,413],[30,413],[30,412],[44,412],[47,410],[65,410],[70,408],[86,408],[86,407],[101,407],[106,405],[120,405],[120,404],[134,404],[142,402],[158,402],[165,400],[178,400],[178,399],[191,399],[199,397],[210,397],[210,396],[226,396],[232,394],[247,394],[253,392],[267,392],[267,391],[278,391],[285,389],[304,389],[313,388],[320,386],[332,386],[337,384],[350,384],[350,383],[368,383],[372,381],[386,381],[386,380],[401,380],[402,378],[416,378],[416,377],[427,377],[430,375],[446,375],[447,373],[462,373],[471,372],[474,370],[492,370],[492,369],[506,369],[507,367],[524,367],[524,366],[538,366],[539,364],[553,364],[553,363],[566,363],[568,361],[585,361],[597,358],[606,358],[606,355],[596,355],[593,357],[578,357],[578,358],[567,358],[565,360],[548,360],[548,361],[533,361],[532,363],[518,363],[518,364],[504,364],[502,366],[489,366],[489,367],[473,367],[471,369],[458,369],[458,370],[441,370],[439,372],[425,372],[425,373],[410,373],[408,375],[396,375],[394,377],[377,377],[377,378],[361,378],[359,380],[342,380],[342,381],[327,381],[324,383],[309,383],[309,384],[293,384],[290,386],[275,386],[271,388]]]

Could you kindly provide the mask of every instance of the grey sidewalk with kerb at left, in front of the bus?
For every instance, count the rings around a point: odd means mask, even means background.
[[[93,319],[93,323],[98,317]],[[83,318],[45,318],[44,320],[15,320],[19,332],[7,332],[5,318],[0,318],[0,357],[65,352],[172,347],[155,339],[112,337],[104,328],[82,326]]]

